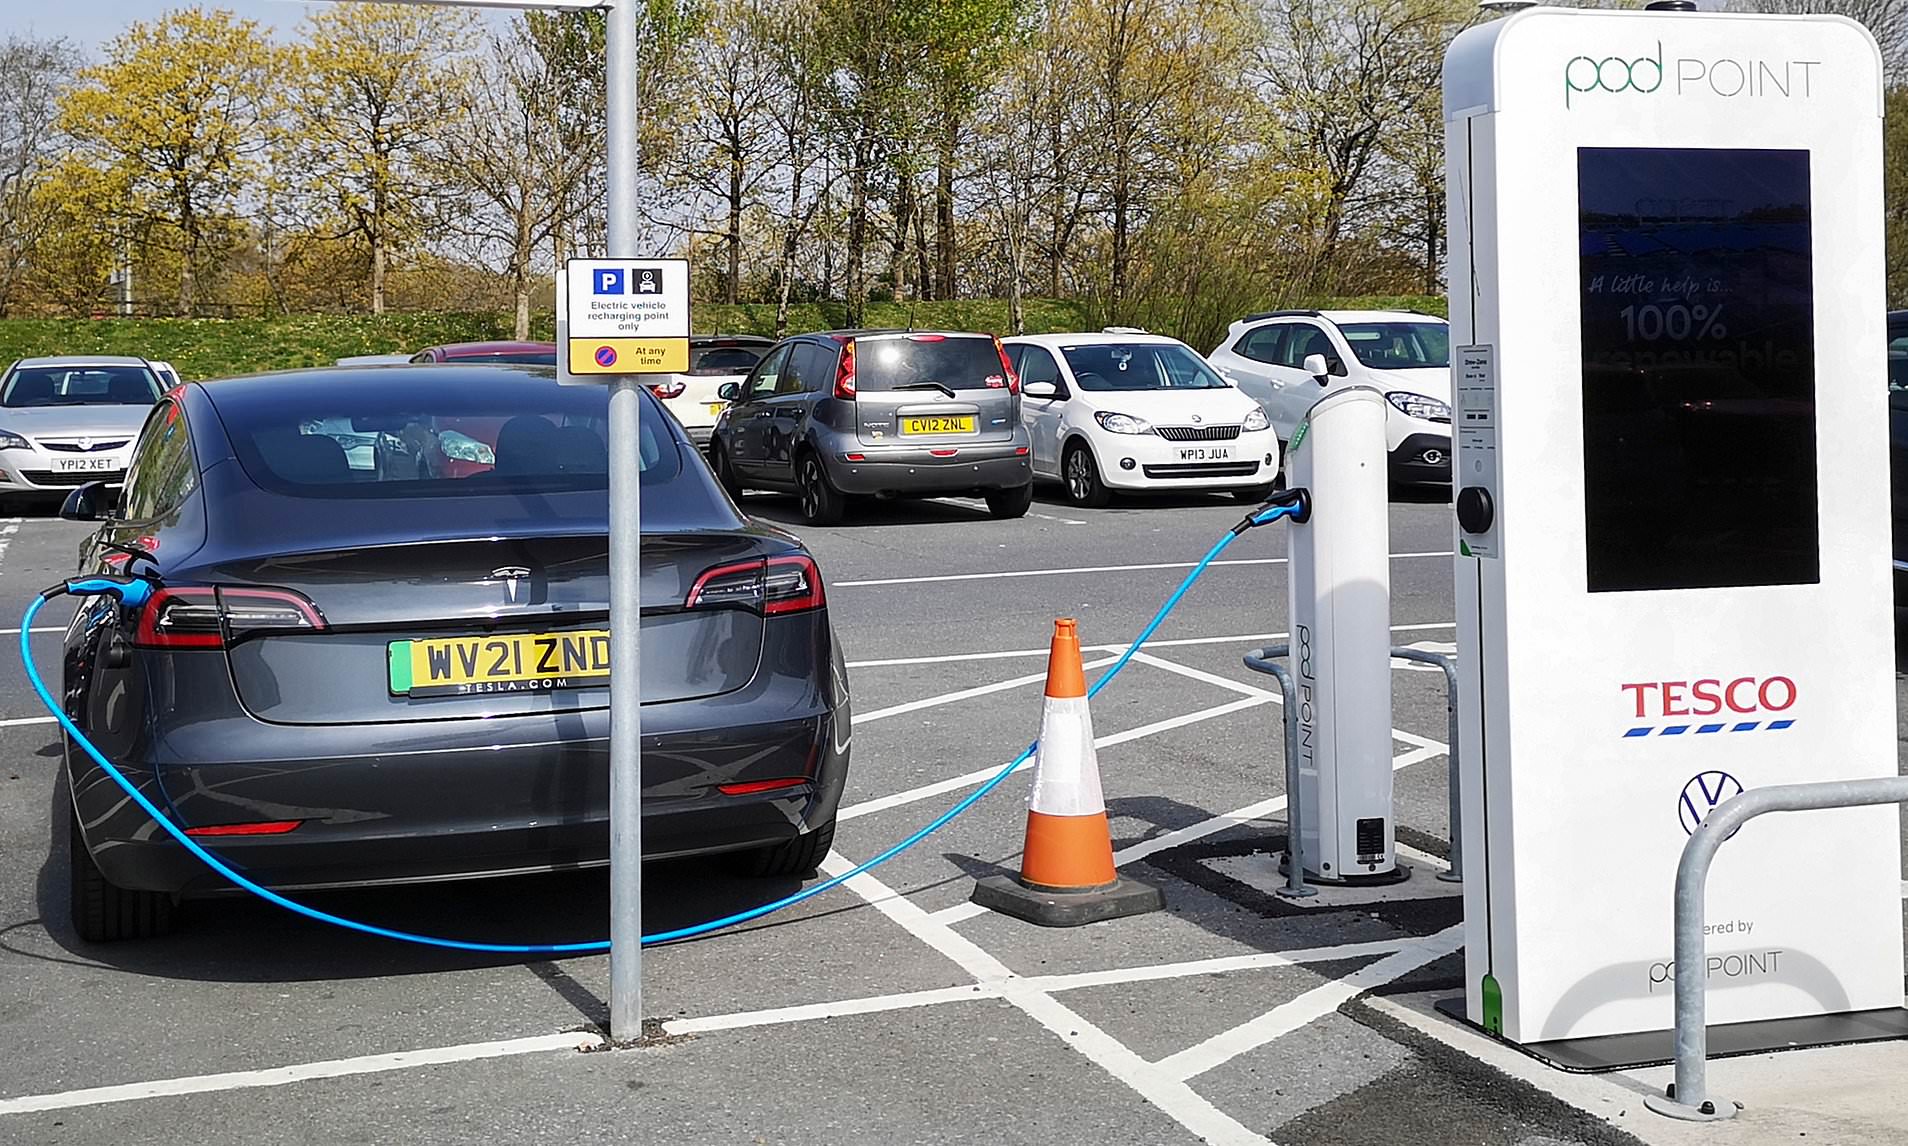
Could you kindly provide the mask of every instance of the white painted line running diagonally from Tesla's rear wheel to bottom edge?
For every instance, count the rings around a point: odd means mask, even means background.
[[[822,871],[840,875],[851,864],[841,852],[828,852]],[[1099,1030],[1053,995],[1025,984],[1009,982],[1013,972],[950,927],[927,917],[916,904],[899,896],[880,879],[862,871],[845,883],[849,890],[868,900],[902,931],[946,955],[981,982],[1000,984],[1002,997],[1047,1028],[1089,1062],[1131,1087],[1141,1098],[1172,1117],[1192,1135],[1213,1146],[1269,1146],[1261,1135],[1208,1102],[1198,1091],[1160,1072],[1120,1039]]]

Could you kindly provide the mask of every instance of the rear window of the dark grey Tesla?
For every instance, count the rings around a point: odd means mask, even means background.
[[[609,488],[609,399],[601,387],[336,385],[221,395],[238,465],[300,498],[443,498]],[[637,458],[645,486],[683,460],[645,399]]]

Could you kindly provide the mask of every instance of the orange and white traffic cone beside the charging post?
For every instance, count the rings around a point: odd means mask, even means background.
[[[988,875],[975,885],[973,902],[1042,927],[1078,927],[1166,906],[1160,889],[1122,879],[1112,866],[1080,633],[1070,620],[1053,622],[1021,877]]]

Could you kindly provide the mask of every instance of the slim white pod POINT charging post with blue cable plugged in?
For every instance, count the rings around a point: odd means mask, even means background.
[[[1385,395],[1345,387],[1292,433],[1292,677],[1299,702],[1299,847],[1315,883],[1410,875],[1391,824],[1391,513]],[[1290,862],[1290,852],[1286,856]]]

